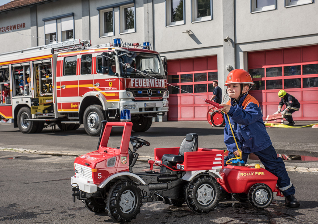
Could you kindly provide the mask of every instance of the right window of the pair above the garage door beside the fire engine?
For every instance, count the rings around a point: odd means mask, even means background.
[[[192,0],[192,22],[212,19],[211,0]]]

